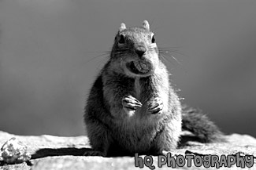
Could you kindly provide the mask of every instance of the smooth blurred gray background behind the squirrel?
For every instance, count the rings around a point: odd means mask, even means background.
[[[226,133],[256,136],[253,0],[1,0],[0,130],[83,135],[84,102],[118,27],[143,20],[180,62],[165,56],[184,103]]]

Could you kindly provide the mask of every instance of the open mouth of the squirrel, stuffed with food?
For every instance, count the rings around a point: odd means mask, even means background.
[[[128,70],[134,74],[148,74],[150,72],[151,64],[144,61],[132,61],[126,64]]]

